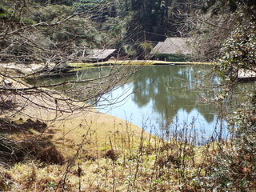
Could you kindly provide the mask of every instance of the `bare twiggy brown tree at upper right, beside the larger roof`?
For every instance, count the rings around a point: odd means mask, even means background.
[[[192,10],[188,23],[194,38],[194,49],[201,60],[214,61],[221,57],[221,48],[232,31],[255,20],[255,1],[206,1]]]

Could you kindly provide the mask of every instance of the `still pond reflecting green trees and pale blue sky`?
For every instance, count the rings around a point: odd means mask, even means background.
[[[88,68],[75,74],[44,77],[40,82],[97,78],[110,70],[113,68]],[[124,85],[98,97],[95,107],[155,135],[178,135],[186,131],[200,142],[226,138],[226,121],[218,118],[219,106],[214,102],[221,91],[220,80],[212,71],[213,66],[201,65],[145,66]],[[71,88],[66,87],[78,92],[76,86]]]

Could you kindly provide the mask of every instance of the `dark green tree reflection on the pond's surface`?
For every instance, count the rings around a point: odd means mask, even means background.
[[[142,91],[135,91],[132,100],[138,107],[146,106],[152,101],[154,110],[170,119],[179,110],[190,114],[196,109],[206,122],[213,122],[216,110],[213,105],[203,102],[203,99],[213,99],[216,93],[213,90],[199,89],[202,82],[198,74],[202,74],[202,70],[202,66],[147,67],[134,81],[134,90],[144,88]],[[203,70],[205,73],[209,71],[209,67]]]

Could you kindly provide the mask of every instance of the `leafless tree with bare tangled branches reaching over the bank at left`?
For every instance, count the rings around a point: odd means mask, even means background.
[[[103,37],[99,39],[102,34],[91,19],[95,14],[91,9],[99,8],[98,11],[104,12],[105,6],[96,5],[76,12],[74,7],[66,6],[67,1],[64,5],[60,1],[39,1],[43,6],[38,6],[38,1],[8,2],[4,1],[0,6],[1,62],[22,63],[20,69],[30,68],[31,62],[43,62],[44,66],[37,70],[31,66],[30,73],[26,74],[19,69],[6,70],[1,66],[2,162],[9,159],[22,161],[27,155],[32,155],[42,161],[62,163],[61,155],[50,159],[43,155],[48,147],[50,151],[47,153],[58,154],[56,141],[51,140],[46,128],[54,122],[70,118],[72,114],[86,115],[86,110],[90,110],[103,94],[120,86],[138,68],[110,67],[104,73],[99,68],[91,77],[93,72],[90,70],[86,78],[81,78],[82,74],[78,72],[75,78],[70,79],[69,74],[62,74],[70,70],[63,63],[81,61],[86,57],[87,50],[106,43]],[[40,74],[49,75],[52,72],[62,75],[63,81],[38,83]],[[30,84],[24,82],[24,78]],[[40,113],[33,114],[33,109],[38,109]],[[20,139],[10,139],[10,131],[18,134]],[[33,134],[34,131],[37,134]]]

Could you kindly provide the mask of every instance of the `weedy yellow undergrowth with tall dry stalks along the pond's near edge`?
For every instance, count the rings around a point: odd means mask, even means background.
[[[106,143],[94,150],[84,141],[73,158],[62,163],[54,146],[34,159],[1,167],[0,190],[8,191],[211,191],[206,179],[213,173],[218,145],[195,146],[189,135],[157,138],[142,131],[140,137],[118,130],[106,136]],[[170,131],[170,130],[169,130]],[[169,133],[168,131],[168,133]],[[177,133],[176,133],[177,134]],[[166,136],[167,135],[167,136]],[[166,139],[168,137],[168,139]],[[179,136],[181,137],[181,136]],[[174,139],[176,138],[176,139]],[[86,141],[86,142],[85,142]],[[41,154],[41,155],[39,155]],[[211,184],[211,185],[210,185]],[[217,184],[216,184],[217,185]]]

